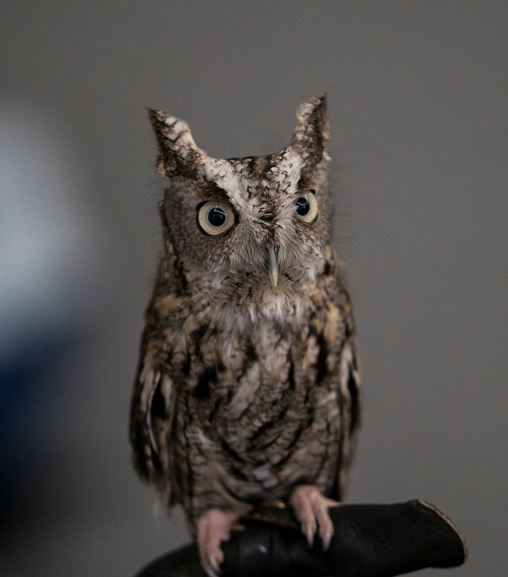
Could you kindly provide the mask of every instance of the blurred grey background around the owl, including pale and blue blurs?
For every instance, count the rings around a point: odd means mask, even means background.
[[[145,107],[213,156],[328,93],[335,245],[365,383],[349,501],[422,497],[503,575],[506,2],[4,0],[0,573],[128,577],[187,541],[130,465],[160,226]]]

